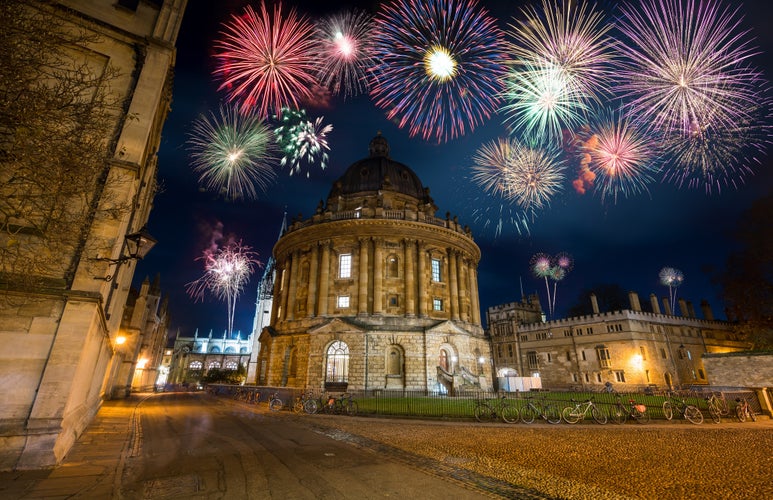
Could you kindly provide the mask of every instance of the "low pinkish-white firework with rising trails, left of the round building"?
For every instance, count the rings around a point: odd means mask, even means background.
[[[228,307],[228,335],[233,332],[236,301],[244,286],[255,270],[260,266],[258,254],[241,242],[232,242],[215,251],[205,250],[199,257],[204,261],[204,275],[185,285],[188,294],[196,302],[204,299],[206,292],[211,292],[220,300],[225,300]]]

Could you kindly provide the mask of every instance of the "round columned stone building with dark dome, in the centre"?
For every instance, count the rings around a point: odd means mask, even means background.
[[[490,390],[480,249],[456,217],[436,217],[429,189],[390,158],[384,137],[369,151],[274,247],[274,300],[256,382],[329,391]]]

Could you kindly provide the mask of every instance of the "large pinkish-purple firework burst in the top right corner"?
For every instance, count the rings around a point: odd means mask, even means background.
[[[689,136],[706,126],[733,129],[757,107],[755,55],[739,31],[738,9],[707,0],[648,0],[621,7],[617,90],[642,123]]]

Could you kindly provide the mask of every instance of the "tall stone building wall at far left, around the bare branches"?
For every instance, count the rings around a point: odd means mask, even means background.
[[[128,7],[119,5],[126,4]],[[0,469],[51,466],[91,422],[122,373],[117,352],[123,308],[134,274],[125,235],[144,226],[155,194],[156,152],[171,100],[174,44],[186,0],[19,2],[42,9],[73,30],[93,35],[80,64],[94,74],[115,70],[108,92],[120,110],[110,114],[109,155],[81,203],[80,242],[57,254],[26,286],[0,273]],[[20,11],[21,12],[21,11]],[[72,53],[73,47],[62,48]],[[46,165],[37,168],[45,169]],[[64,180],[63,182],[66,182]],[[76,205],[71,205],[75,213]],[[46,215],[41,215],[46,217]],[[0,221],[7,224],[7,220]],[[24,235],[30,252],[34,231]],[[0,245],[13,243],[0,232]],[[101,258],[98,260],[97,257]],[[112,259],[112,261],[108,260]],[[28,276],[29,278],[29,276]],[[129,376],[129,373],[124,373]],[[127,378],[128,379],[128,378]],[[124,379],[121,385],[125,385]]]

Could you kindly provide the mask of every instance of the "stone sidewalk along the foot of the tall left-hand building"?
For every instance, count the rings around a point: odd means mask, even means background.
[[[126,457],[137,442],[137,406],[147,395],[102,403],[63,462],[50,469],[0,472],[0,498],[116,498]]]

